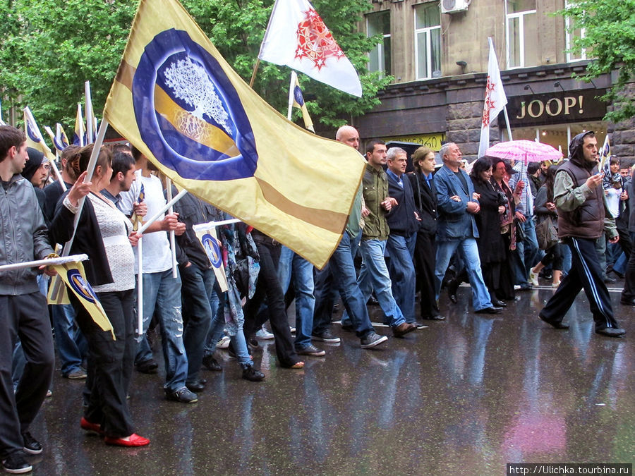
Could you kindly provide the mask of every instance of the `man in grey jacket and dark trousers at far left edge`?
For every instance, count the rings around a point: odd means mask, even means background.
[[[41,260],[53,252],[32,184],[20,175],[28,160],[26,138],[12,126],[0,126],[0,221],[12,240],[0,242],[0,264]],[[32,470],[25,453],[42,453],[29,426],[44,401],[54,367],[53,336],[46,298],[36,276],[45,270],[0,271],[0,460],[6,472]],[[47,274],[54,271],[46,269]],[[20,335],[26,365],[13,394],[11,360]]]

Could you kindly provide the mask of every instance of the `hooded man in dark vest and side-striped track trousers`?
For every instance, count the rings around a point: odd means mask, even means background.
[[[556,329],[568,329],[562,319],[582,288],[593,312],[595,332],[619,337],[624,329],[613,317],[611,299],[602,279],[595,241],[606,228],[610,243],[619,236],[607,212],[598,172],[598,140],[593,131],[576,135],[569,144],[569,161],[556,173],[553,197],[558,210],[558,236],[571,249],[571,271],[540,311],[540,319]]]

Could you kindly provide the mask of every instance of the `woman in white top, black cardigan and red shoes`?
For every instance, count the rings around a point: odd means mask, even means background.
[[[145,446],[150,440],[135,433],[130,408],[130,386],[134,341],[135,271],[133,246],[139,234],[131,221],[114,206],[101,190],[112,176],[111,152],[99,149],[90,182],[85,182],[92,145],[78,153],[81,172],[73,187],[60,198],[51,227],[58,243],[73,236],[75,214],[80,213],[71,253],[85,253],[86,277],[97,294],[114,333],[104,331],[73,293],[68,298],[75,309],[75,321],[88,342],[88,377],[84,390],[84,415],[80,427],[104,435],[106,444]],[[81,211],[81,197],[86,197]]]

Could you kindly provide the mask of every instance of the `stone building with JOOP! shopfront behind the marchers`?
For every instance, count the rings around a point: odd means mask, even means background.
[[[571,78],[588,59],[567,53],[568,19],[552,15],[567,0],[372,1],[361,28],[384,41],[369,66],[393,75],[394,83],[381,92],[380,106],[356,119],[362,138],[435,150],[452,141],[476,158],[492,37],[514,139],[546,142],[566,156],[571,137],[595,130],[600,145],[610,133],[612,153],[635,161],[634,121],[603,121],[607,104],[599,97],[617,73],[593,83]],[[503,114],[490,130],[491,143],[500,140],[507,140]]]

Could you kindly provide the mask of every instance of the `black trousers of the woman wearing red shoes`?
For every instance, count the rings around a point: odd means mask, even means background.
[[[84,389],[84,417],[102,425],[108,437],[123,438],[134,433],[128,408],[136,343],[134,339],[134,290],[97,293],[110,319],[116,341],[109,331],[95,324],[83,305],[69,294],[75,318],[88,342],[88,377]]]

